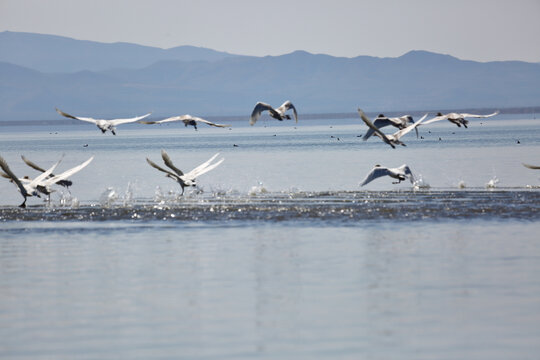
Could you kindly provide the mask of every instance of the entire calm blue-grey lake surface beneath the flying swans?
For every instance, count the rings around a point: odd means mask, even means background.
[[[95,156],[50,204],[0,179],[0,358],[538,358],[539,120],[246,123],[0,127],[19,176]],[[161,149],[225,161],[181,196]]]

